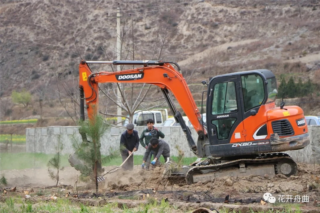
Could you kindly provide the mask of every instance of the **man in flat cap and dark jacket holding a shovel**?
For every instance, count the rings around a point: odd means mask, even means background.
[[[120,149],[121,146],[124,146],[124,149],[121,151],[122,162],[124,162],[132,152],[137,151],[139,147],[138,131],[133,130],[133,128],[133,124],[128,124],[127,130],[124,131],[121,135]],[[133,169],[133,155],[129,157],[123,167],[127,170]]]

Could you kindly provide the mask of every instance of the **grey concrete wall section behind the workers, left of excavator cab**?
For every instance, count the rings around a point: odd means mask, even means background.
[[[62,153],[69,154],[73,152],[72,142],[70,137],[81,139],[77,126],[48,126],[42,128],[27,128],[26,129],[26,152],[36,152],[45,154],[54,154],[55,147],[60,135],[60,142],[64,148]],[[135,130],[138,131],[139,137],[146,127],[137,126]],[[194,157],[195,154],[190,151],[187,138],[184,135],[180,126],[163,126],[158,127],[164,133],[164,140],[170,145],[170,154],[178,156],[178,151],[175,148],[179,145],[180,149],[184,150],[186,157]],[[111,127],[111,129],[102,137],[101,140],[101,154],[107,155],[109,149],[118,149],[120,146],[121,134],[126,130],[125,127]],[[193,128],[190,128],[192,137],[195,141],[198,139],[198,134]],[[144,155],[145,148],[139,145],[136,155]]]

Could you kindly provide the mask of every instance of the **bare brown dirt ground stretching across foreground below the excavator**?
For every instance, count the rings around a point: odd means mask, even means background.
[[[115,166],[105,167],[110,171]],[[60,171],[62,180],[55,186],[55,181],[48,177],[45,169],[27,169],[1,171],[8,179],[7,194],[1,193],[0,201],[10,196],[10,189],[17,187],[15,194],[24,197],[24,191],[29,191],[31,199],[52,201],[52,193],[56,196],[65,197],[74,202],[89,203],[90,205],[106,204],[109,202],[125,203],[129,208],[137,207],[140,203],[146,202],[143,197],[154,196],[156,199],[168,198],[169,202],[178,206],[178,209],[188,210],[198,207],[207,208],[230,208],[249,211],[249,208],[256,211],[263,211],[268,208],[283,209],[281,204],[288,204],[288,195],[294,198],[296,195],[308,196],[308,202],[291,201],[291,204],[300,204],[303,212],[320,211],[319,191],[319,166],[308,166],[299,164],[298,176],[286,178],[283,175],[275,177],[248,176],[242,178],[219,178],[213,181],[198,182],[187,185],[185,181],[167,181],[162,179],[163,167],[156,167],[150,171],[141,170],[135,166],[133,171],[119,169],[116,172],[106,175],[107,180],[99,184],[99,193],[94,194],[93,184],[75,183],[80,173],[72,167]],[[315,186],[318,186],[316,188]],[[39,190],[51,190],[50,194],[36,195]],[[3,190],[2,190],[3,191]],[[263,194],[269,192],[276,197],[276,203],[261,204]],[[77,194],[77,197],[76,197]],[[279,202],[280,195],[284,196],[284,202]],[[226,199],[226,196],[229,198]],[[101,197],[100,200],[95,197]],[[228,200],[228,201],[226,201]],[[294,207],[293,207],[294,208]]]

